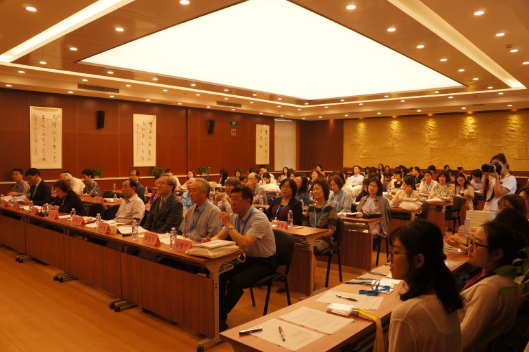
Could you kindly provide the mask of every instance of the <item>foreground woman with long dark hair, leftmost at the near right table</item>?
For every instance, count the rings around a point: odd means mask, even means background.
[[[461,351],[463,299],[447,268],[439,227],[417,219],[389,235],[389,270],[406,282],[391,312],[389,351]]]

